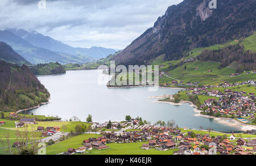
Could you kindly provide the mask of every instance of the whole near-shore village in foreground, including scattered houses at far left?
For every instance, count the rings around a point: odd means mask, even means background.
[[[10,116],[15,116],[10,113]],[[127,117],[127,116],[126,116]],[[130,116],[128,116],[130,117]],[[1,122],[5,124],[5,122]],[[174,122],[175,123],[175,122]],[[21,118],[19,122],[15,121],[17,129],[25,126],[38,125],[35,118]],[[248,131],[245,134],[225,134],[214,133],[211,130],[196,130],[186,127],[174,127],[174,124],[168,125],[150,125],[142,123],[141,118],[126,118],[122,122],[105,122],[103,124],[90,123],[92,130],[86,130],[82,135],[96,134],[98,137],[83,139],[79,144],[81,146],[73,148],[72,142],[69,142],[67,151],[59,155],[90,154],[90,151],[108,150],[109,144],[133,144],[141,142],[141,150],[148,151],[155,149],[157,151],[172,151],[174,155],[254,155],[256,154],[255,130]],[[108,130],[106,130],[106,127]],[[56,145],[63,140],[61,137],[67,137],[67,140],[79,135],[61,132],[60,126],[37,126],[36,132],[41,133],[42,139],[37,142],[46,142],[48,146]],[[251,134],[251,135],[249,135]],[[229,136],[228,136],[229,135]],[[54,141],[53,137],[57,137]],[[49,144],[49,142],[53,142]],[[73,142],[76,144],[77,142]],[[21,142],[14,142],[13,147],[23,146]]]

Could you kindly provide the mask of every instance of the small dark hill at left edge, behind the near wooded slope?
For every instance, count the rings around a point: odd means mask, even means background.
[[[31,64],[25,58],[20,56],[20,54],[16,53],[10,45],[6,44],[5,42],[0,41],[0,59],[11,62],[17,63],[18,65],[22,64]]]

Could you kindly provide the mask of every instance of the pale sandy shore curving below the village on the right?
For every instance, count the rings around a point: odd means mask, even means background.
[[[155,96],[155,97],[156,97],[155,99],[159,99],[159,98],[157,98],[159,96]],[[197,106],[195,104],[193,104],[191,101],[181,101],[180,103],[173,103],[171,101],[155,101],[155,103],[165,103],[165,104],[171,104],[171,105],[182,105],[184,103],[189,103],[189,104],[191,104],[189,106],[193,107],[194,111],[196,112],[195,116],[211,118],[211,119],[217,121],[220,124],[236,127],[238,129],[240,129],[241,131],[247,131],[247,130],[253,130],[253,129],[255,130],[256,129],[256,126],[254,126],[254,125],[246,125],[246,124],[243,124],[242,122],[239,122],[239,121],[234,120],[232,118],[218,118],[218,117],[214,117],[214,116],[208,116],[208,115],[200,114],[201,110],[197,109]]]

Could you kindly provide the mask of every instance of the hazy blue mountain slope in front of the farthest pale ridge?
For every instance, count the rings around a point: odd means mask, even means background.
[[[94,60],[88,56],[72,56],[34,46],[10,31],[0,31],[0,41],[6,42],[15,52],[33,64],[49,62],[86,63]]]

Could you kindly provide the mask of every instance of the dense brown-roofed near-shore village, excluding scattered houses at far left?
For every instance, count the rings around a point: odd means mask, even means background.
[[[233,133],[226,135],[210,136],[210,134],[195,134],[189,129],[177,127],[157,127],[154,125],[138,125],[139,121],[132,119],[122,126],[129,126],[131,131],[108,132],[98,138],[89,138],[81,142],[79,148],[68,148],[64,155],[86,154],[93,149],[108,149],[109,143],[145,142],[142,150],[155,148],[159,151],[174,151],[174,155],[254,155],[256,154],[256,139],[236,138]],[[112,126],[116,129],[116,125]],[[135,128],[135,129],[134,129]],[[187,131],[188,130],[188,131]],[[238,134],[239,135],[239,134]]]

